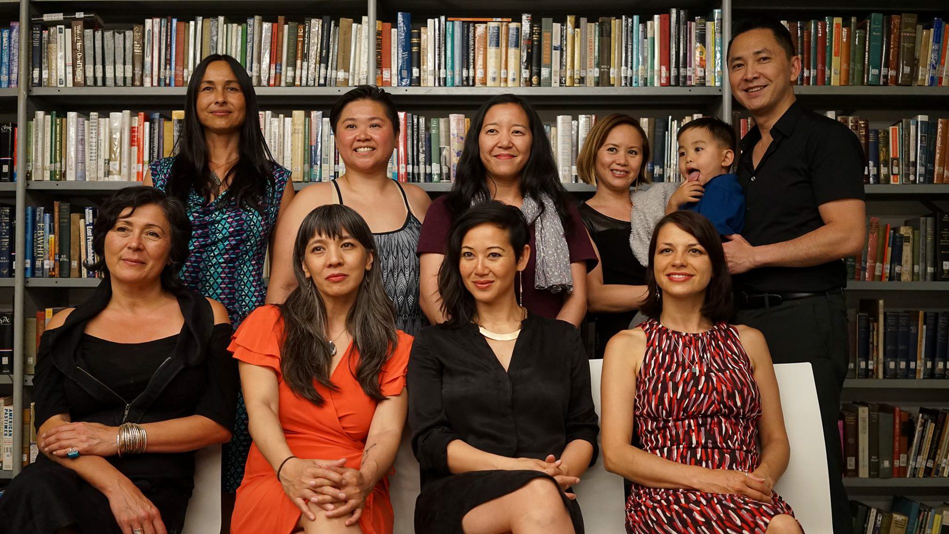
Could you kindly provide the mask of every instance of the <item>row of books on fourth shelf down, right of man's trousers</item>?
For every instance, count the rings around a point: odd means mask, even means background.
[[[854,326],[857,378],[946,378],[949,311],[886,310],[861,299]]]

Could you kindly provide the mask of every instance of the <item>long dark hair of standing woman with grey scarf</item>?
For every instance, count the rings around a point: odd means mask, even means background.
[[[484,117],[488,114],[488,110],[502,103],[516,103],[521,106],[530,122],[530,155],[528,156],[527,165],[524,166],[524,170],[521,172],[521,194],[530,196],[537,202],[541,212],[543,212],[544,204],[541,202],[541,193],[547,193],[550,199],[553,200],[554,206],[557,207],[557,214],[560,215],[564,229],[568,230],[572,226],[572,221],[567,206],[573,200],[564,185],[560,183],[557,165],[553,161],[553,152],[550,150],[547,133],[544,132],[544,123],[541,122],[537,110],[530,105],[529,101],[522,100],[510,93],[497,95],[484,102],[478,108],[477,113],[474,114],[471,127],[468,129],[468,135],[465,136],[461,158],[458,159],[455,184],[446,198],[448,207],[451,208],[452,212],[460,213],[471,207],[472,198],[475,196],[491,197],[487,183],[487,170],[481,161],[478,137],[481,128],[484,126]]]

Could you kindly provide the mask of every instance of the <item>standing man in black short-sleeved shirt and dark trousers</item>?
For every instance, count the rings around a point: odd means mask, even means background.
[[[745,228],[724,247],[735,277],[735,322],[761,330],[775,363],[813,366],[834,532],[850,534],[837,429],[847,374],[842,258],[864,246],[864,154],[846,126],[795,101],[791,83],[800,69],[780,22],[760,17],[736,25],[729,81],[755,127],[741,141],[737,169]]]

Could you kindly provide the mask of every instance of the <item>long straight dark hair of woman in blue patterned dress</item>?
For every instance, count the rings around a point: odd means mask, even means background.
[[[273,185],[273,157],[267,148],[264,135],[260,132],[260,120],[257,113],[257,94],[253,91],[247,69],[233,57],[223,54],[211,54],[195,66],[185,95],[184,128],[176,143],[175,163],[168,176],[168,193],[182,202],[188,202],[192,188],[206,199],[214,198],[217,186],[211,178],[208,165],[208,146],[204,140],[204,126],[197,120],[197,91],[204,79],[208,64],[226,62],[237,78],[240,90],[244,94],[245,119],[240,130],[238,159],[222,181],[230,179],[228,190],[238,206],[247,205],[257,212],[265,210],[264,202],[267,190]]]

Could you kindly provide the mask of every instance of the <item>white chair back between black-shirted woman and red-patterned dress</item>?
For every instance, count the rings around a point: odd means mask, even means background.
[[[590,393],[597,417],[600,416],[600,377],[603,360],[590,359]],[[600,436],[597,436],[600,444]],[[596,463],[590,466],[577,485],[577,502],[584,514],[584,526],[590,534],[625,531],[626,506],[623,502],[623,477],[603,467],[603,447]]]

